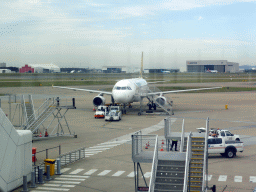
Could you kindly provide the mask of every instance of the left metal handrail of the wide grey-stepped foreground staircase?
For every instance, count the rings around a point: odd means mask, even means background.
[[[148,190],[149,192],[153,192],[155,189],[157,165],[158,165],[158,135],[156,135],[155,150],[153,155],[153,162],[152,162],[151,176],[150,176],[149,190]]]

